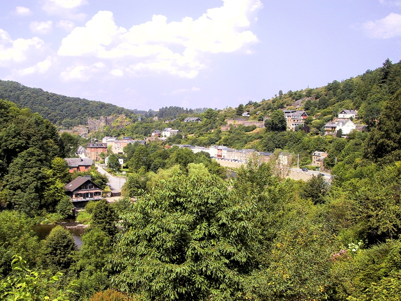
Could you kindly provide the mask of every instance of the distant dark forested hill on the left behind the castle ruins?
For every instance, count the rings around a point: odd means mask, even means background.
[[[91,101],[78,97],[68,97],[30,88],[15,81],[0,80],[0,99],[12,101],[22,108],[38,112],[53,123],[74,126],[86,124],[88,117],[99,118],[112,114],[131,116],[146,111],[128,110],[114,104]]]

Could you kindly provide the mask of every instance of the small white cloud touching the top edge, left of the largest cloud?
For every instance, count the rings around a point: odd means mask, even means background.
[[[75,12],[77,8],[87,3],[86,0],[44,0],[42,9],[49,15],[58,15],[68,19],[84,20],[86,14]]]

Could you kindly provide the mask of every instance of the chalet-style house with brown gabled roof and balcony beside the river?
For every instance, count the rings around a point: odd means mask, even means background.
[[[83,208],[89,201],[102,199],[102,189],[91,181],[90,176],[77,177],[65,189],[74,207]]]

